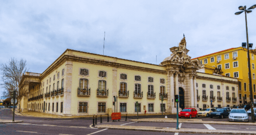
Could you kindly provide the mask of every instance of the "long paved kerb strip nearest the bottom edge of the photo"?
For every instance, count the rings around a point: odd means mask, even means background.
[[[152,126],[127,126],[127,125],[97,125],[97,128],[109,129],[126,129],[139,131],[158,131],[158,132],[177,132],[177,133],[210,133],[210,134],[256,134],[255,131],[239,131],[239,130],[210,130],[210,129],[192,129],[192,128],[167,128]]]

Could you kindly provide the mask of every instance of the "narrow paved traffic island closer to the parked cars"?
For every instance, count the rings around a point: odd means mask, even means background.
[[[133,119],[131,121],[176,123],[177,119],[151,118],[151,119]],[[201,119],[179,119],[179,122],[181,122],[181,123],[195,123],[195,124],[226,124],[226,125],[255,125],[256,126],[256,123],[250,123],[250,122],[202,121]]]

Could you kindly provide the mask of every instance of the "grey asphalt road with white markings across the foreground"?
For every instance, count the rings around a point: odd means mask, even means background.
[[[4,120],[12,120],[12,111],[10,109],[0,110],[0,118]],[[176,115],[167,115],[168,118],[176,118]],[[122,117],[120,121],[106,122],[107,119],[102,118],[102,123],[98,118],[98,124],[116,124],[116,125],[133,125],[133,126],[157,126],[157,127],[173,127],[176,123],[159,123],[159,122],[132,122],[130,119],[136,119],[136,116],[129,117],[127,121],[124,121],[125,117]],[[162,118],[162,116],[139,116],[139,118]],[[227,118],[194,118],[202,120],[214,120],[214,121],[228,121]],[[15,120],[22,120],[23,123],[9,123],[0,124],[0,134],[156,134],[153,131],[136,131],[136,130],[117,130],[117,129],[97,129],[91,128],[92,118],[71,118],[71,119],[53,119],[53,118],[37,118],[27,116],[16,116]],[[190,124],[181,123],[181,128],[197,128],[207,129],[207,125],[204,124]],[[210,124],[210,127],[222,130],[247,130],[256,131],[256,126],[245,125],[219,125]],[[157,132],[157,134],[175,134],[166,132]],[[190,133],[179,133],[190,134]],[[177,135],[177,133],[175,134]]]

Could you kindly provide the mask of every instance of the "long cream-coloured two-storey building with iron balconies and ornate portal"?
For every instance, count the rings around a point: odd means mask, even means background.
[[[154,65],[67,49],[43,73],[23,75],[19,87],[29,95],[20,102],[21,109],[78,116],[115,111],[156,114],[163,106],[167,113],[176,113],[174,97],[178,93],[180,109],[206,107],[211,97],[215,107],[238,104],[237,78],[201,73],[208,69],[198,59],[190,60],[185,38],[170,51],[169,57]],[[229,101],[226,97],[232,93],[234,99]]]

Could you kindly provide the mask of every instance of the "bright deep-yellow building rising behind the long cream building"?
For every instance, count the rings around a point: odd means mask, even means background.
[[[255,64],[256,64],[256,51],[250,50],[250,63],[251,63],[251,76],[252,76],[252,92],[253,98],[256,98],[255,91]],[[230,48],[215,53],[211,53],[206,56],[194,58],[192,60],[199,59],[201,64],[205,65],[208,69],[207,73],[218,73],[224,76],[230,76],[234,78],[239,78],[241,85],[239,88],[239,103],[247,103],[250,101],[249,95],[249,71],[248,71],[248,61],[247,61],[247,49],[243,47]],[[215,71],[215,69],[210,70],[210,67],[216,67],[221,69]]]

